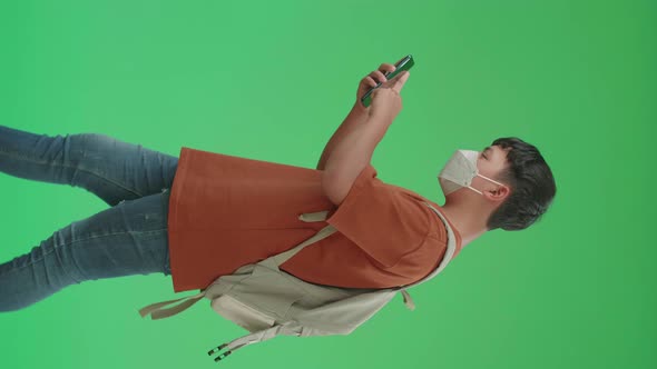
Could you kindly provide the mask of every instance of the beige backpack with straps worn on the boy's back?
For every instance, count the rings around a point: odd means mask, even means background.
[[[455,251],[455,237],[448,221],[440,211],[428,202],[424,203],[443,221],[448,231],[448,249],[437,269],[414,283],[388,289],[337,288],[308,283],[278,269],[278,266],[304,247],[336,231],[329,225],[291,250],[243,266],[233,275],[222,276],[197,295],[144,307],[139,315],[146,317],[150,313],[154,320],[163,319],[189,308],[203,297],[207,298],[218,315],[251,332],[207,352],[212,356],[225,349],[214,359],[218,361],[244,346],[280,335],[349,335],[383,308],[396,292],[402,293],[404,303],[413,310],[415,306],[406,289],[435,277],[447,267]],[[300,219],[308,222],[323,221],[327,213],[329,211],[304,213]],[[165,308],[180,300],[183,302]]]

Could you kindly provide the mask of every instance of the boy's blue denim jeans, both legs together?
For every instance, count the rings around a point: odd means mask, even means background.
[[[0,172],[81,187],[110,206],[0,265],[0,311],[86,280],[169,276],[167,215],[177,167],[176,157],[104,134],[50,137],[0,126]]]

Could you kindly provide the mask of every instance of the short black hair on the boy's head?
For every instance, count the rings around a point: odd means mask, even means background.
[[[548,210],[557,184],[550,167],[539,150],[517,137],[499,138],[492,142],[507,152],[507,166],[497,180],[508,184],[511,193],[488,219],[489,230],[521,230],[533,225]]]

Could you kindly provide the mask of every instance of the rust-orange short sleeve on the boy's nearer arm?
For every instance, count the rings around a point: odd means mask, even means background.
[[[367,164],[326,222],[386,269],[422,246],[430,233],[431,209],[376,173]]]

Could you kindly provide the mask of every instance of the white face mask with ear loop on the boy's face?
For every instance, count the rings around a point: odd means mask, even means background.
[[[442,170],[438,174],[438,180],[440,181],[440,187],[442,188],[442,192],[444,193],[444,196],[452,193],[461,187],[467,187],[479,195],[483,195],[481,191],[470,187],[470,184],[472,183],[472,179],[474,179],[474,177],[478,176],[493,183],[504,186],[503,183],[500,183],[488,177],[481,176],[478,172],[478,157],[479,151],[473,150],[457,150],[452,154],[444,168],[442,168]]]

